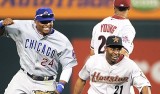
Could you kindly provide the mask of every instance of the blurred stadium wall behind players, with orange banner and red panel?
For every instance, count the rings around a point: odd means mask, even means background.
[[[54,11],[54,28],[72,42],[78,59],[63,94],[72,94],[78,72],[89,56],[93,27],[103,18],[113,16],[113,0],[0,0],[0,19],[34,19],[37,8]],[[152,84],[152,94],[160,94],[160,0],[132,0],[129,19],[136,29],[131,59],[140,66]],[[13,40],[0,39],[0,94],[20,69]],[[86,94],[87,83],[83,94]],[[136,94],[137,90],[135,89]]]

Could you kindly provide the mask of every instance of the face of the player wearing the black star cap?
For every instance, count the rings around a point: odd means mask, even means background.
[[[119,46],[106,47],[106,59],[111,65],[117,63],[121,55],[121,49],[122,47]]]

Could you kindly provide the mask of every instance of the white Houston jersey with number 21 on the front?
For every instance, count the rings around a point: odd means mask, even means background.
[[[79,77],[90,79],[88,94],[130,94],[132,85],[139,92],[144,86],[151,86],[141,69],[128,57],[111,66],[104,54],[93,55],[86,61]]]

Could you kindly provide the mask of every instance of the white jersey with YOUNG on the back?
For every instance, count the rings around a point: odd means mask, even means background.
[[[130,53],[133,50],[133,39],[135,29],[128,19],[118,19],[117,17],[107,17],[99,22],[92,31],[91,49],[95,54],[104,53],[104,45],[110,35],[122,38],[123,46]]]

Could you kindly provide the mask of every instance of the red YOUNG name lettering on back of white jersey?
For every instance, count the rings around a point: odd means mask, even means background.
[[[112,24],[102,24],[101,32],[110,32],[111,34],[115,31],[117,27]]]

